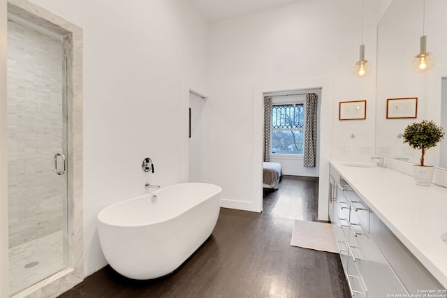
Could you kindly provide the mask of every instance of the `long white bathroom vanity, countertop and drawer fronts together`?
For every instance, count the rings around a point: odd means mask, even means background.
[[[351,295],[447,297],[447,189],[390,168],[331,162],[330,174],[340,185],[332,224],[347,245],[340,258]]]

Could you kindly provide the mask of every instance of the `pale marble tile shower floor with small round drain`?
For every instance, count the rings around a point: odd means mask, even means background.
[[[62,231],[9,248],[9,295],[64,269]]]

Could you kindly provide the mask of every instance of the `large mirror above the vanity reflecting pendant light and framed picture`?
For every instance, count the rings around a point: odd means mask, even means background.
[[[447,80],[443,80],[447,78],[445,15],[445,0],[393,0],[379,22],[375,150],[379,156],[418,163],[420,151],[403,144],[406,126],[432,119],[447,130]],[[418,73],[412,59],[420,51],[423,35],[427,36],[427,52],[434,54],[436,64],[427,72]],[[417,105],[415,100],[398,98],[418,98]],[[395,112],[396,109],[404,112]],[[427,165],[444,169],[446,160],[446,140],[429,149],[425,157]]]

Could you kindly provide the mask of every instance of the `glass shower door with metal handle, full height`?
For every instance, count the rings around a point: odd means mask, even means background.
[[[9,294],[67,264],[61,36],[8,17]]]

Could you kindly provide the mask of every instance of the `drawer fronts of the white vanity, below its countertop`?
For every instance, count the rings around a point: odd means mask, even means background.
[[[415,270],[413,267],[399,269],[402,275],[396,274],[388,258],[394,255],[395,266],[399,267],[402,258],[397,258],[397,255],[402,255],[402,244],[401,247],[388,244],[390,234],[386,233],[389,232],[386,230],[386,225],[375,216],[349,183],[335,172],[337,171],[331,167],[330,176],[333,181],[331,180],[330,184],[337,184],[337,189],[332,194],[333,208],[330,219],[352,297],[409,295],[417,293],[418,289],[429,289],[426,288],[427,283],[418,283],[406,277],[408,274],[411,275],[407,270]],[[395,237],[394,239],[399,243]],[[386,255],[383,250],[387,252]],[[413,261],[417,262],[416,259]],[[406,283],[416,283],[418,289],[413,290],[414,285],[410,286]],[[442,287],[439,284],[432,284],[430,287],[430,289],[435,288]]]

